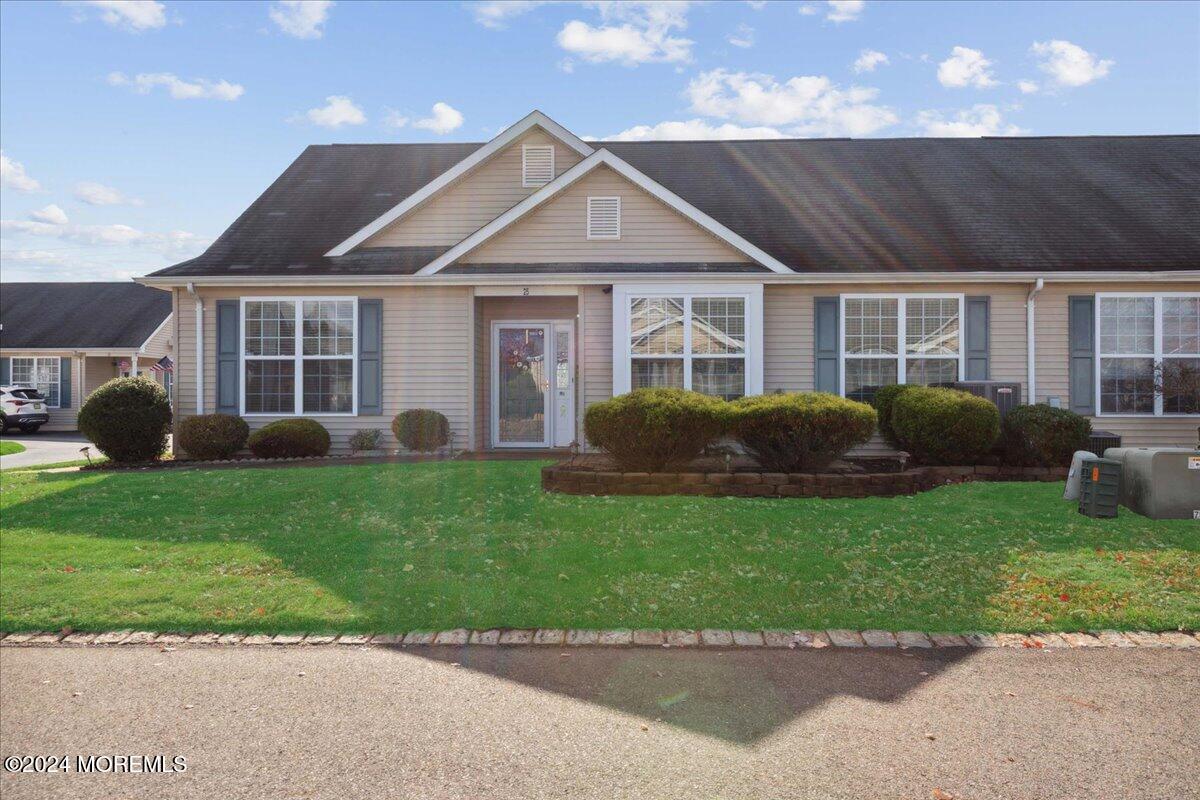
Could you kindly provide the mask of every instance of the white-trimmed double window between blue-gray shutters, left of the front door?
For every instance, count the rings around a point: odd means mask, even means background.
[[[354,414],[358,301],[244,297],[242,413]]]

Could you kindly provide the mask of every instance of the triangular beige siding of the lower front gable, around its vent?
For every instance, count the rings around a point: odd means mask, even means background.
[[[588,196],[620,197],[619,240],[588,240]],[[608,167],[598,167],[458,260],[536,264],[750,259]]]

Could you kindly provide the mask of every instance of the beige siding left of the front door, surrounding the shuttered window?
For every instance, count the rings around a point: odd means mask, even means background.
[[[216,301],[248,296],[354,295],[383,299],[383,408],[380,416],[310,414],[324,425],[334,451],[344,452],[347,439],[359,428],[384,432],[385,446],[397,446],[391,420],[402,410],[431,408],[446,415],[456,449],[467,446],[470,416],[470,290],[467,287],[354,287],[281,289],[245,287],[203,289],[204,299],[204,410],[216,408]],[[175,407],[179,419],[196,413],[196,314],[192,299],[181,296],[179,365]],[[275,416],[248,416],[251,429]]]

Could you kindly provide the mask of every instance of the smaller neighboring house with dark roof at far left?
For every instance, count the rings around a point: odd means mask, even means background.
[[[97,386],[145,373],[168,392],[172,373],[151,371],[173,355],[170,293],[121,283],[0,283],[0,384],[37,386],[50,421],[73,431]]]

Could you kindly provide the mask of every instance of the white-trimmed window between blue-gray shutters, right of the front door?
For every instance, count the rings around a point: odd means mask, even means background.
[[[841,393],[870,403],[892,384],[962,374],[962,295],[842,295]]]

